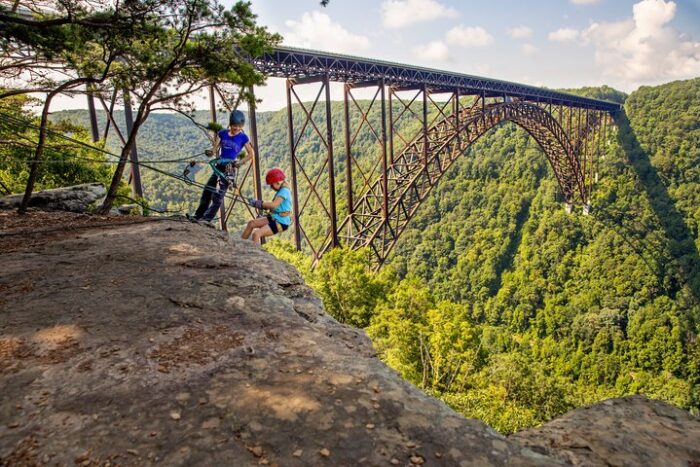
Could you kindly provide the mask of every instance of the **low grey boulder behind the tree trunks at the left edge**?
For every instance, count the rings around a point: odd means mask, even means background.
[[[107,194],[101,183],[86,183],[53,190],[38,191],[32,194],[30,207],[51,211],[85,212],[88,207]],[[22,202],[23,194],[0,198],[0,209],[16,209]]]

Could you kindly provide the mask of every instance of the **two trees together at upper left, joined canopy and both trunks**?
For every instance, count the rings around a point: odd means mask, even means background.
[[[255,23],[248,2],[228,10],[217,0],[56,0],[18,5],[23,8],[0,7],[0,26],[7,31],[0,42],[0,71],[5,78],[0,98],[46,93],[25,208],[55,95],[89,84],[96,92],[127,89],[137,101],[134,126],[102,208],[107,211],[132,142],[152,110],[188,108],[188,97],[212,83],[229,83],[244,90],[239,95],[245,96],[250,86],[264,81],[248,58],[279,41],[279,36]],[[22,84],[27,81],[29,87]]]

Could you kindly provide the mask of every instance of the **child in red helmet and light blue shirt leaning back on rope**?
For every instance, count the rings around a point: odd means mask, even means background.
[[[273,200],[248,198],[248,204],[257,209],[269,209],[270,214],[248,222],[243,231],[244,239],[252,234],[253,241],[260,245],[263,238],[284,232],[292,224],[292,192],[284,181],[285,178],[282,169],[270,169],[265,175],[265,182],[275,190]]]

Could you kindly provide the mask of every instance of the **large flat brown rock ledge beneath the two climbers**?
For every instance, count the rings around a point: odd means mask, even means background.
[[[40,216],[48,228],[27,225]],[[403,381],[250,242],[176,220],[66,216],[0,213],[0,465],[576,461],[545,432],[505,438]],[[665,413],[649,412],[662,440],[638,443],[647,459],[695,446],[698,421],[686,414],[683,435]]]

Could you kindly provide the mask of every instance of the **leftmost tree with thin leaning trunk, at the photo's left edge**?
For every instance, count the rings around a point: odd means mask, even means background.
[[[59,94],[78,86],[97,85],[115,79],[118,59],[126,50],[153,33],[148,18],[157,12],[151,1],[117,3],[95,8],[89,1],[28,2],[32,16],[0,6],[2,67],[0,76],[28,82],[5,89],[0,98],[45,93],[34,157],[19,211],[24,212],[34,188],[47,142],[49,109]],[[145,26],[145,27],[144,27]],[[126,67],[121,67],[122,73]],[[115,184],[114,191],[119,187]]]

